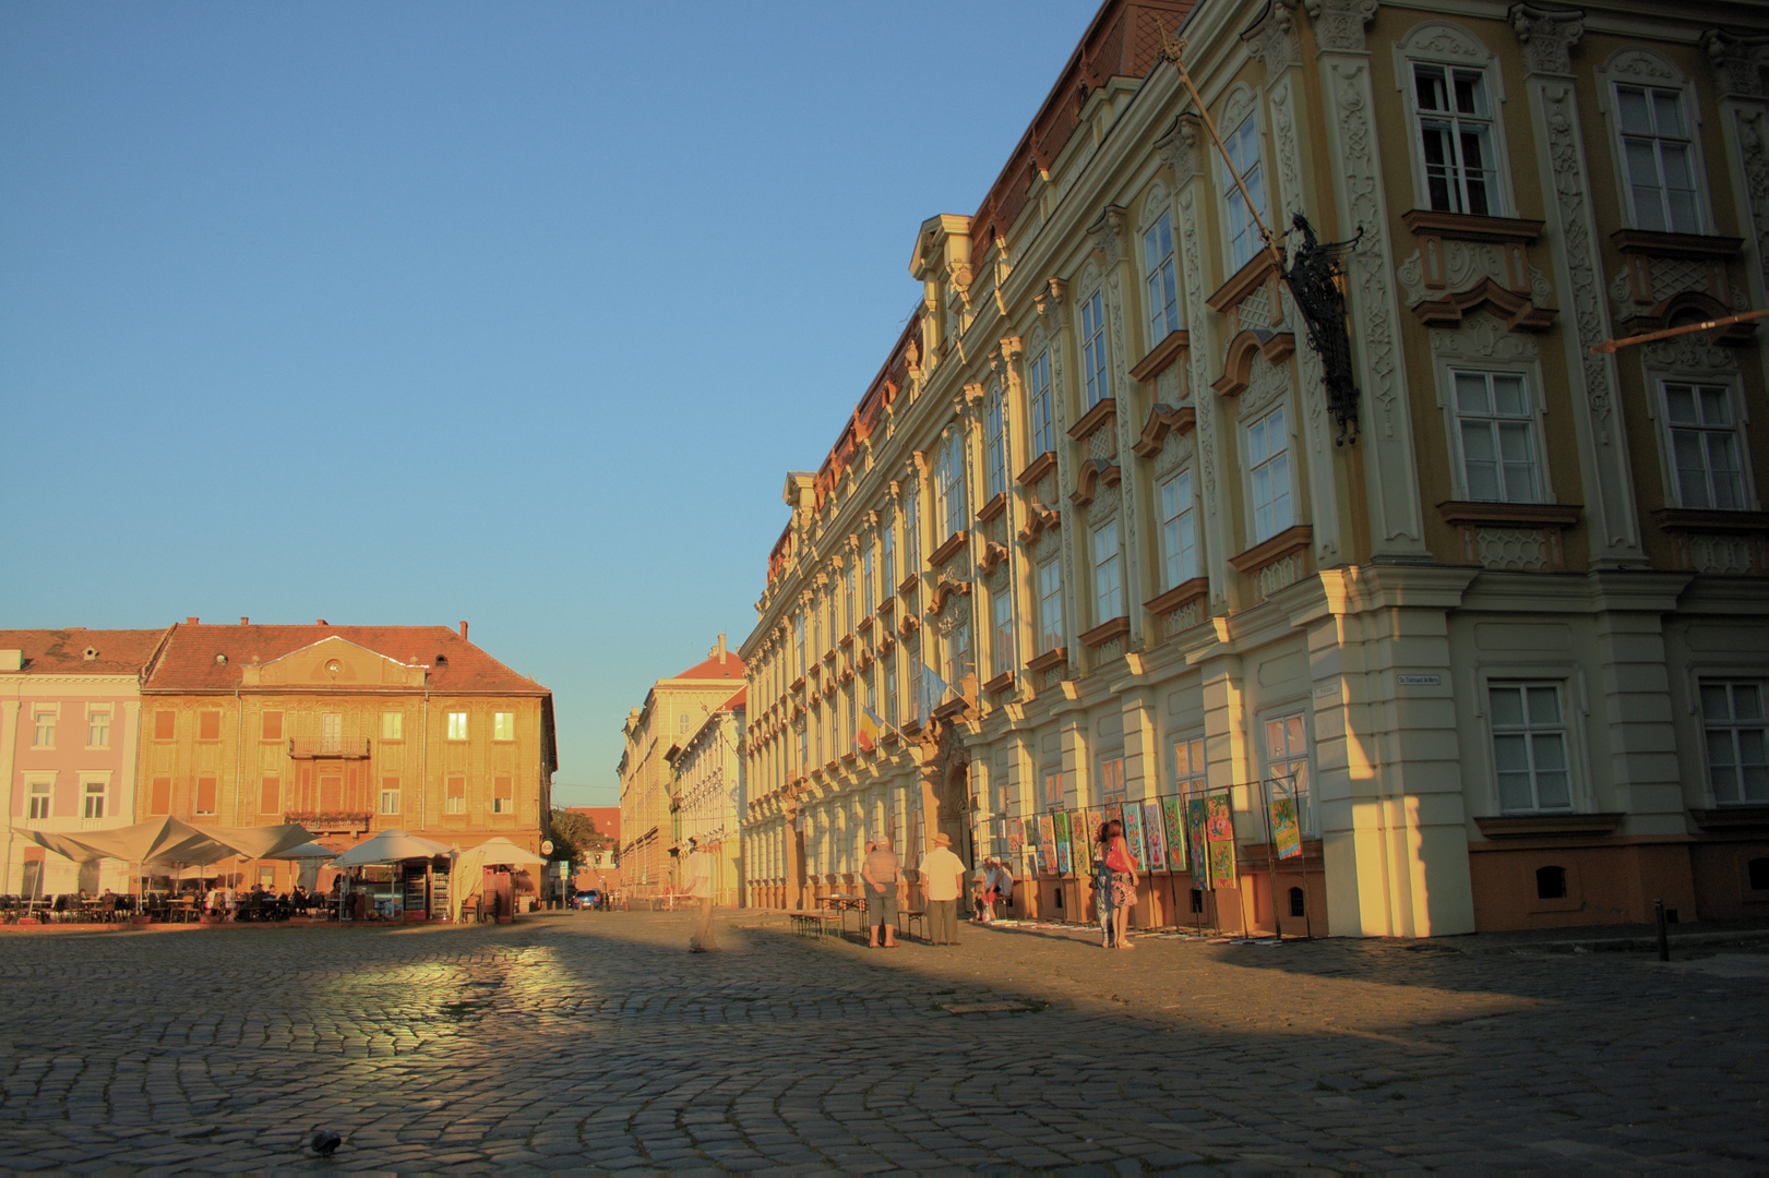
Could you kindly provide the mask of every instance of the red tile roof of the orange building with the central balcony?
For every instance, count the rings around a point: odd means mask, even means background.
[[[333,624],[177,624],[142,690],[232,692],[253,658],[269,663],[333,635],[398,663],[423,663],[430,669],[430,692],[437,695],[550,695],[540,683],[517,674],[448,626]],[[226,654],[226,662],[216,662],[216,654]]]

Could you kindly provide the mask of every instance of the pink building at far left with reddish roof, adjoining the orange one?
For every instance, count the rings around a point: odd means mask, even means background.
[[[131,865],[78,865],[27,830],[78,835],[134,821],[142,676],[166,630],[0,630],[0,891],[129,891]]]

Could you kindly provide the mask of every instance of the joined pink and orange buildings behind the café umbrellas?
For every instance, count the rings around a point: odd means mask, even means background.
[[[299,822],[343,851],[400,828],[538,849],[557,768],[552,693],[467,624],[0,631],[0,890],[129,888],[23,838],[152,817]],[[271,870],[265,867],[265,870]]]

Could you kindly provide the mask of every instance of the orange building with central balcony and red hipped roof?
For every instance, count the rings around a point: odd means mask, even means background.
[[[405,830],[540,851],[552,693],[446,626],[173,626],[142,686],[136,815],[301,822],[329,847]],[[281,870],[281,874],[278,874]],[[285,886],[253,865],[248,883]]]

